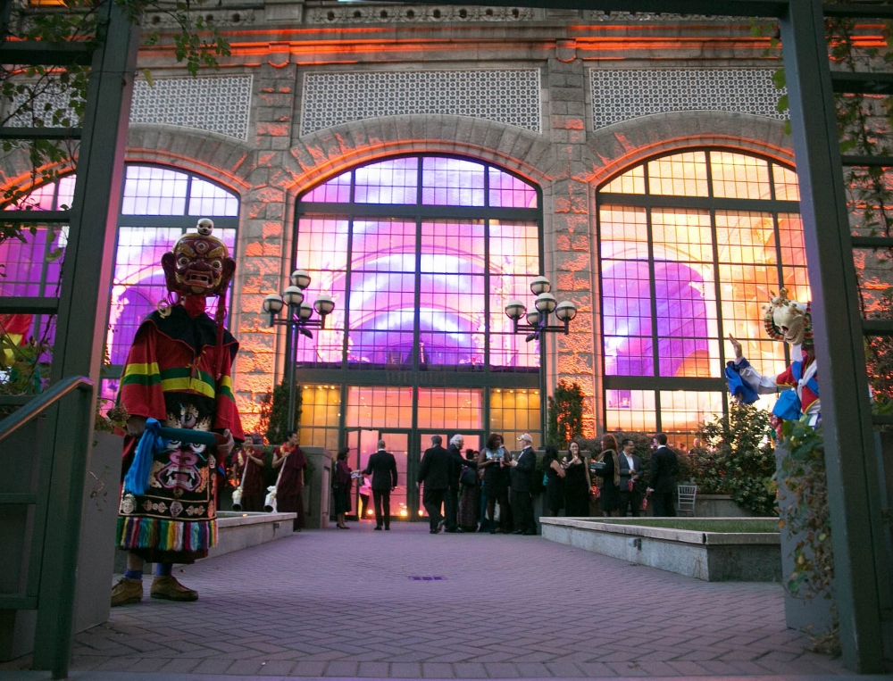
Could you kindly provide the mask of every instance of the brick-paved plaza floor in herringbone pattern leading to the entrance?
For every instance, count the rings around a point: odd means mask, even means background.
[[[701,582],[539,536],[351,527],[178,569],[195,603],[149,599],[146,577],[142,603],[77,637],[76,677],[846,674],[785,628],[777,584]]]

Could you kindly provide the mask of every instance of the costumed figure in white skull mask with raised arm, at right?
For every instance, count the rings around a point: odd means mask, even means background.
[[[773,340],[790,345],[790,365],[777,376],[763,376],[745,359],[741,344],[729,336],[735,350],[735,361],[728,363],[725,372],[731,394],[749,404],[755,403],[760,394],[772,394],[780,387],[789,387],[779,395],[772,409],[772,425],[776,432],[786,420],[799,419],[817,427],[822,411],[809,306],[789,300],[787,289],[782,288],[779,295],[772,297],[764,324]]]

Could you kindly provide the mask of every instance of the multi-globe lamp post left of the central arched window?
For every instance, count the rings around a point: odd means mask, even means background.
[[[295,366],[297,363],[297,338],[295,331],[302,336],[313,338],[311,328],[326,328],[326,317],[335,309],[335,302],[328,294],[320,294],[313,306],[304,302],[304,292],[310,286],[310,275],[306,270],[295,270],[289,277],[291,286],[282,294],[270,294],[263,299],[263,311],[270,315],[270,326],[288,327],[288,430],[295,429]],[[285,310],[283,319],[276,319]],[[313,311],[320,319],[313,320]]]

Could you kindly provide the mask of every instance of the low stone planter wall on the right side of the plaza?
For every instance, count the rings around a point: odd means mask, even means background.
[[[541,518],[543,537],[707,582],[780,582],[778,533],[719,533]]]

